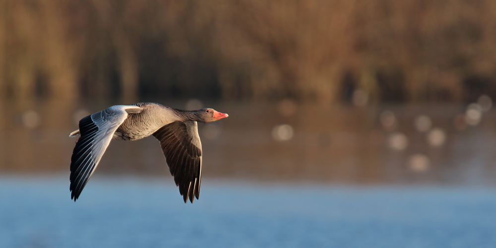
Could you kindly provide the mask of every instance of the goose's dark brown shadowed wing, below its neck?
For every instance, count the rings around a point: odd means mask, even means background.
[[[173,122],[158,129],[153,136],[160,141],[176,186],[185,203],[193,203],[200,194],[201,143],[196,122]]]

